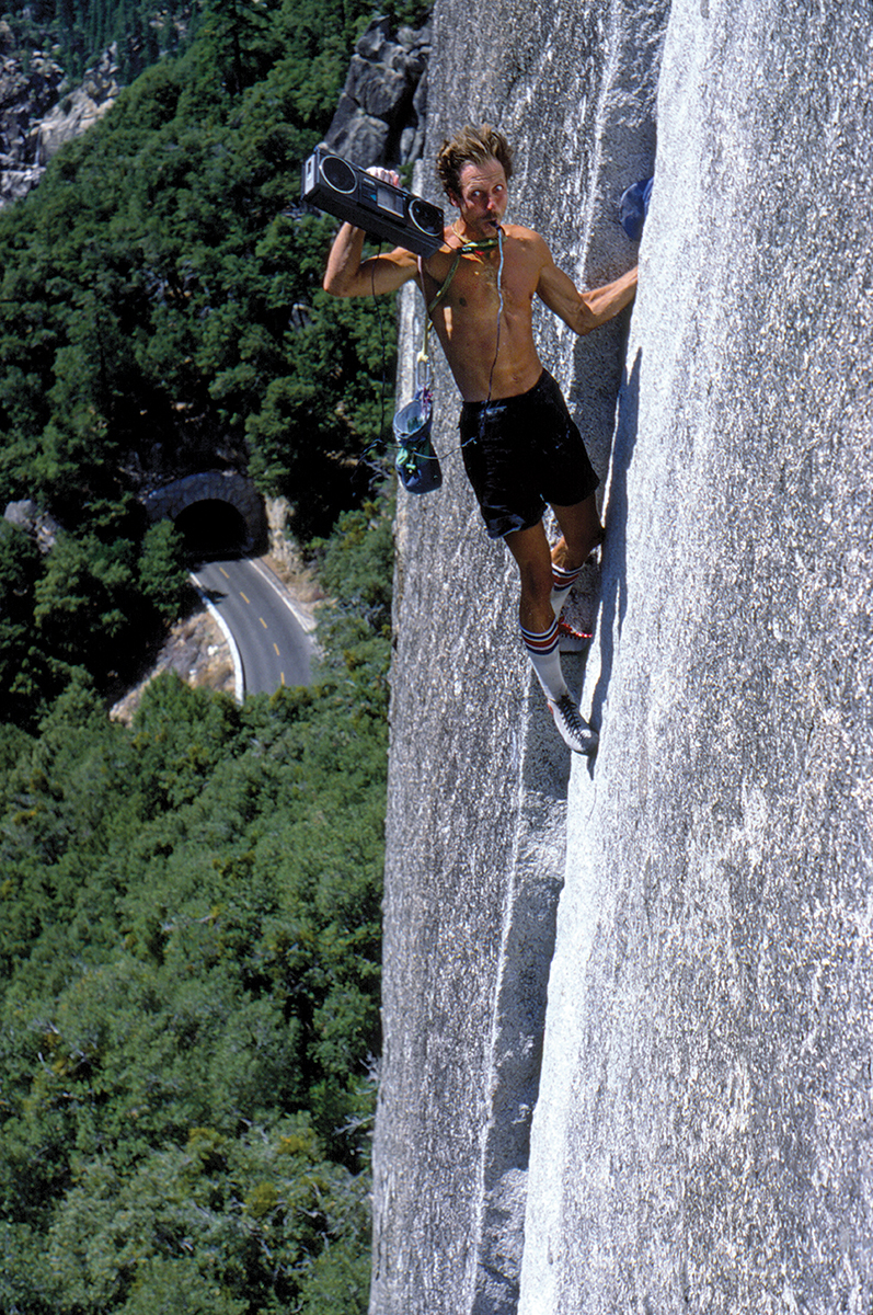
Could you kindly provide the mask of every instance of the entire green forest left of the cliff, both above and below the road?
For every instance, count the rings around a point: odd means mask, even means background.
[[[0,213],[0,505],[58,527],[0,522],[5,1315],[367,1308],[394,320],[296,197],[368,18],[216,0]],[[126,727],[187,589],[137,494],[204,460],[288,498],[322,661]]]

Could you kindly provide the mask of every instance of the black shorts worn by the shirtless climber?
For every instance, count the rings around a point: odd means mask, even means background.
[[[492,539],[536,525],[547,504],[582,502],[600,484],[546,370],[518,397],[464,402],[459,427],[467,475]]]

